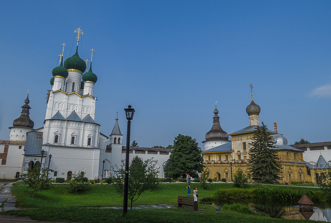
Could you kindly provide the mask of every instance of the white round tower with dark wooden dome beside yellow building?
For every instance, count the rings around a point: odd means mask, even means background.
[[[228,143],[230,141],[228,134],[221,128],[219,124],[219,116],[217,114],[218,110],[215,105],[213,126],[212,129],[206,133],[206,140],[203,141],[205,144],[205,150]]]

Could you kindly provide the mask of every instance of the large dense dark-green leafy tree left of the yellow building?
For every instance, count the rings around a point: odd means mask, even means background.
[[[179,134],[173,141],[173,151],[168,159],[170,177],[185,178],[186,173],[193,178],[199,177],[204,167],[201,152],[196,139]]]

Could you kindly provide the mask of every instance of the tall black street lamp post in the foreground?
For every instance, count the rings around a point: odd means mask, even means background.
[[[125,177],[124,177],[124,198],[123,198],[123,215],[127,214],[127,197],[129,189],[129,151],[130,151],[130,132],[131,132],[131,120],[135,110],[131,105],[124,108],[125,116],[127,119],[126,130],[126,149],[125,149]]]

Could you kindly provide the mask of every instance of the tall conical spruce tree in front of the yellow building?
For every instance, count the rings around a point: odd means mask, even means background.
[[[278,161],[277,151],[273,148],[276,142],[268,133],[267,126],[262,122],[253,136],[251,159],[249,160],[252,180],[263,184],[277,183],[280,177],[281,165]]]

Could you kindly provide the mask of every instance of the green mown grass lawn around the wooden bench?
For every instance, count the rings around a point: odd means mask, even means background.
[[[202,190],[200,184],[192,184],[198,188],[199,198],[211,197],[219,188],[234,188],[233,184],[212,184],[209,190]],[[252,185],[248,186],[249,188]],[[274,187],[274,186],[270,186]],[[296,190],[307,188],[291,187]],[[312,188],[311,190],[319,190]],[[161,184],[143,193],[133,205],[169,204],[177,206],[177,195],[186,196],[186,184]],[[193,191],[193,190],[192,190]],[[12,189],[17,196],[16,205],[22,210],[7,211],[6,214],[30,216],[34,220],[74,221],[74,222],[297,222],[295,220],[274,219],[255,215],[241,214],[231,211],[215,212],[214,207],[199,203],[199,211],[188,208],[178,209],[134,209],[129,210],[123,218],[122,210],[87,207],[122,206],[123,197],[118,195],[112,185],[91,185],[88,191],[71,194],[66,185],[55,185],[48,191],[32,192],[26,190],[21,183]],[[130,203],[130,201],[129,201]],[[302,221],[305,222],[305,221]],[[308,221],[307,221],[308,222]],[[312,221],[309,221],[312,222]]]

